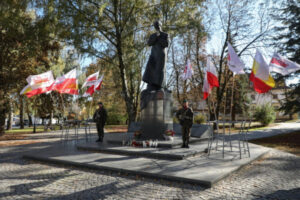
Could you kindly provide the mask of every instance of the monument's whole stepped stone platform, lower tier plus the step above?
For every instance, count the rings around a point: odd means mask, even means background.
[[[111,138],[107,137],[107,139]],[[177,147],[165,149],[117,147],[107,142],[95,144],[94,141],[80,140],[78,142],[65,141],[47,150],[25,154],[24,157],[54,164],[116,171],[212,187],[224,177],[269,151],[268,148],[262,146],[249,145],[251,157],[243,154],[243,158],[239,159],[235,143],[233,143],[232,152],[229,148],[225,149],[225,158],[223,158],[221,151],[214,150],[209,157],[203,153],[207,141],[191,144],[190,149]]]

